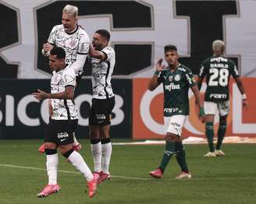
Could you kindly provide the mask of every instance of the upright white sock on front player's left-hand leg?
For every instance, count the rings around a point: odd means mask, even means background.
[[[58,153],[55,153],[52,155],[46,155],[46,160],[47,160],[46,169],[48,174],[48,185],[56,185],[58,164],[59,164]]]

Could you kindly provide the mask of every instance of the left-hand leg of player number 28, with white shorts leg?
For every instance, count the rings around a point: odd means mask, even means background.
[[[204,157],[215,157],[214,138],[214,118],[217,112],[217,104],[204,101],[205,117],[205,135],[208,140],[209,152]]]

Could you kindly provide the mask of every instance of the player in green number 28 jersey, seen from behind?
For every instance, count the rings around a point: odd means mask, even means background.
[[[221,150],[222,140],[226,133],[226,119],[229,114],[229,77],[232,75],[236,85],[242,94],[242,104],[247,110],[247,99],[243,83],[236,69],[236,65],[224,56],[225,44],[222,40],[212,43],[213,56],[207,58],[201,64],[198,78],[198,88],[201,89],[204,76],[206,77],[207,89],[204,94],[205,135],[208,139],[210,151],[204,157],[225,156]],[[218,142],[216,148],[213,145],[214,118],[219,112]]]

